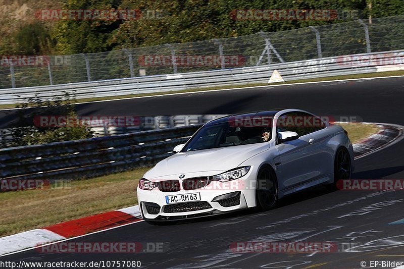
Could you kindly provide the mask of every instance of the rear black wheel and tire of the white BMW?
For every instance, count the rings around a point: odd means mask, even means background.
[[[350,179],[352,175],[352,164],[349,152],[346,148],[340,147],[335,154],[334,160],[334,183],[330,188],[336,190],[338,180]]]

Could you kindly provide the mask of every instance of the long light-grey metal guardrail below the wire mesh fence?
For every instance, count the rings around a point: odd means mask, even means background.
[[[274,70],[278,70],[285,81],[290,81],[373,73],[382,71],[380,67],[395,68],[397,66],[402,67],[403,64],[404,50],[361,53],[256,67],[2,89],[0,91],[0,104],[17,103],[23,101],[24,98],[34,97],[35,95],[43,99],[49,99],[55,95],[62,95],[65,91],[74,94],[77,98],[88,98],[176,91],[210,86],[268,83]]]

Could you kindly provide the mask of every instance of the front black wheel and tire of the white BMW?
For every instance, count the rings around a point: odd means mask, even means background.
[[[264,166],[257,176],[257,207],[262,210],[274,208],[278,202],[278,182],[272,168]]]

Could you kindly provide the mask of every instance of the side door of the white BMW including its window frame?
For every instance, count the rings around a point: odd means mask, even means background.
[[[277,134],[281,131],[292,131],[299,138],[292,141],[277,143],[280,164],[277,168],[281,175],[283,188],[291,188],[312,181],[323,175],[321,169],[323,161],[318,150],[325,139],[317,134],[325,126],[310,126],[299,118],[314,117],[303,112],[286,113],[277,119]],[[291,120],[285,120],[291,119]]]

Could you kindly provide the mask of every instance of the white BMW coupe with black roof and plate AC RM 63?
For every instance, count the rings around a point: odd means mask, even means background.
[[[258,206],[349,179],[354,151],[346,131],[309,112],[286,109],[231,115],[201,127],[137,187],[149,223]]]

